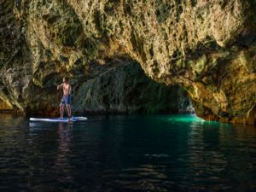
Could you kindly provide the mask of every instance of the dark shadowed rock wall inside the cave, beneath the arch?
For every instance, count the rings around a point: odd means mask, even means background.
[[[137,62],[114,60],[90,68],[95,77],[73,91],[75,113],[191,113],[181,88],[148,79]]]

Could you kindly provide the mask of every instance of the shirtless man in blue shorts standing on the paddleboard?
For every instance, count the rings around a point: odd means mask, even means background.
[[[68,79],[65,77],[62,79],[63,84],[57,86],[57,90],[63,89],[63,96],[61,98],[61,104],[60,104],[60,113],[61,113],[61,119],[63,119],[64,114],[64,105],[66,105],[67,113],[68,113],[68,120],[71,119],[71,108],[70,108],[70,102],[71,102],[71,86],[68,84]]]

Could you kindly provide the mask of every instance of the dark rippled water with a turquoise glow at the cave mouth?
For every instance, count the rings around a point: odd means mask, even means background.
[[[193,115],[0,115],[0,191],[255,191],[256,127]]]

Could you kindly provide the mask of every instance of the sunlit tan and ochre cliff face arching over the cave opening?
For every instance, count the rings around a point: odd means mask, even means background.
[[[12,106],[31,108],[40,101],[46,108],[59,74],[83,82],[91,63],[125,56],[154,81],[182,85],[201,117],[255,123],[254,1],[5,0],[1,5],[8,8],[1,20],[12,23],[18,49],[14,56],[1,51],[6,59],[0,96]]]

